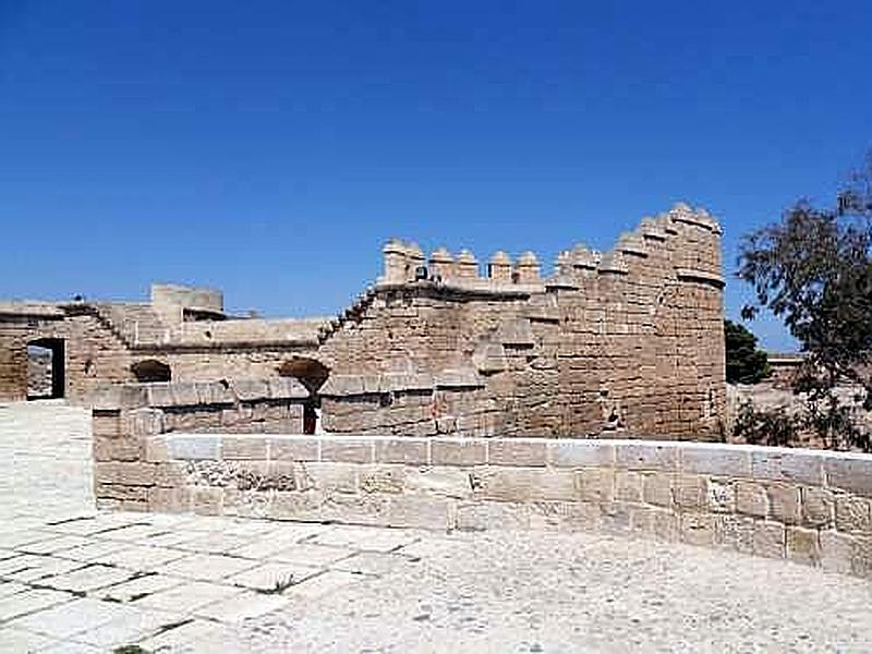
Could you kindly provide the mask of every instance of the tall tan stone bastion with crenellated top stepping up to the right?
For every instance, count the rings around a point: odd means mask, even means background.
[[[471,253],[455,259],[439,249],[422,279],[422,257],[414,244],[388,243],[384,277],[316,354],[342,376],[342,389],[374,388],[371,378],[384,375],[481,376],[472,412],[492,415],[492,431],[476,419],[444,432],[450,421],[437,424],[433,392],[431,424],[412,433],[723,436],[720,229],[705,211],[677,205],[611,252],[578,245],[548,278],[531,253],[517,263],[497,253],[487,277]],[[330,407],[354,402],[366,415],[359,425],[334,421],[340,432],[365,433],[380,414],[395,433],[397,410],[422,401],[400,389],[351,399],[332,386],[323,391]]]

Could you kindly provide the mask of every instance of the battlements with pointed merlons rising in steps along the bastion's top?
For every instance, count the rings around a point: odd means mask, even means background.
[[[642,218],[639,226],[623,232],[608,252],[592,250],[583,243],[560,252],[548,277],[543,277],[540,258],[530,251],[517,259],[497,251],[482,269],[480,261],[469,250],[461,250],[455,256],[440,246],[426,258],[417,243],[391,239],[383,250],[385,268],[378,284],[429,281],[480,290],[571,286],[595,275],[629,275],[634,261],[664,252],[677,277],[723,284],[720,233],[719,223],[707,210],[678,203],[657,217]]]

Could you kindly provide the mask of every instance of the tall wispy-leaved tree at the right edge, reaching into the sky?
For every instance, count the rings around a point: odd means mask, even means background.
[[[829,447],[870,449],[849,404],[872,409],[871,250],[872,155],[833,206],[800,201],[740,245],[739,277],[756,298],[742,317],[768,308],[807,353],[794,390],[808,401],[803,426]],[[845,385],[859,389],[850,400],[836,392]]]

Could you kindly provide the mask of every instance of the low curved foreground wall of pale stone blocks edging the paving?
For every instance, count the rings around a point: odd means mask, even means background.
[[[439,530],[603,530],[872,578],[872,457],[640,440],[161,433],[95,411],[98,502]],[[99,453],[99,452],[98,452]]]

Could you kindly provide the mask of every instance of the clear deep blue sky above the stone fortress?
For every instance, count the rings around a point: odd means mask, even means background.
[[[820,0],[0,0],[0,298],[332,313],[391,235],[550,263],[680,199],[729,274],[872,145],[871,32]]]

